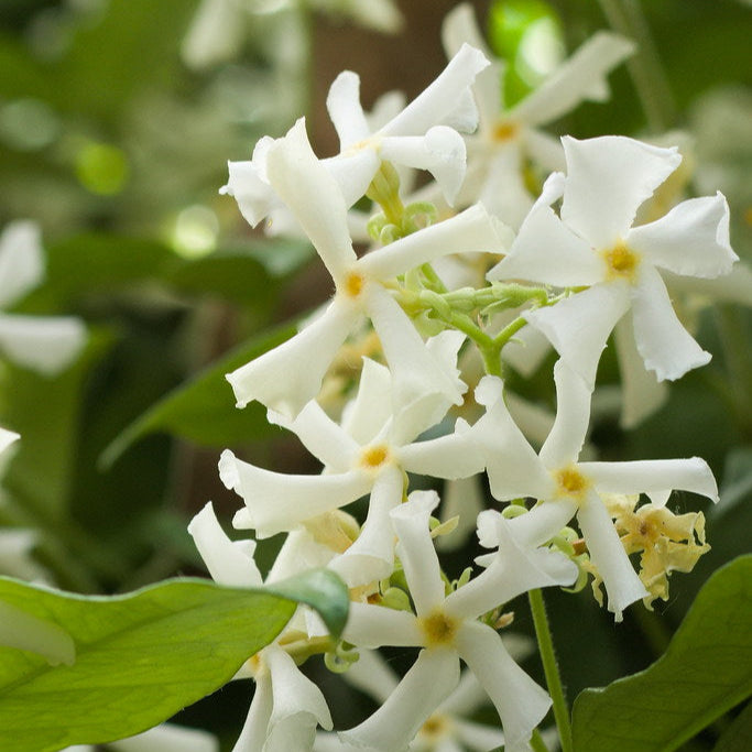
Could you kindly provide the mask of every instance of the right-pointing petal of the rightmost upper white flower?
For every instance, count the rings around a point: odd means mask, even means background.
[[[690,198],[650,225],[632,228],[624,242],[675,274],[728,274],[739,257],[729,244],[729,206],[723,195]]]

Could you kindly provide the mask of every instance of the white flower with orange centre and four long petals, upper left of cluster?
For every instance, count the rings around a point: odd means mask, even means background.
[[[497,220],[481,207],[471,207],[358,259],[341,192],[310,150],[303,121],[270,146],[266,171],[321,257],[336,292],[318,319],[227,377],[238,406],[259,400],[287,416],[296,415],[316,396],[336,351],[363,316],[379,335],[401,404],[433,394],[459,404],[457,380],[437,368],[436,359],[385,285],[399,274],[448,253],[501,250],[505,239]]]

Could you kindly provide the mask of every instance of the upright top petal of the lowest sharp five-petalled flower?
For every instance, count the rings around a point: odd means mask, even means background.
[[[392,511],[392,524],[400,538],[396,554],[405,570],[410,595],[418,617],[444,602],[444,580],[428,530],[431,513],[438,504],[433,492],[413,492],[410,501]]]

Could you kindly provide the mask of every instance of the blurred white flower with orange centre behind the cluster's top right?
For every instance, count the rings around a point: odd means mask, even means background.
[[[473,86],[480,123],[468,139],[468,175],[460,205],[481,201],[512,227],[519,227],[533,198],[525,187],[523,164],[531,159],[546,172],[564,166],[557,140],[540,129],[573,110],[584,100],[604,101],[607,75],[632,54],[634,44],[610,32],[598,32],[558,66],[541,86],[510,109],[501,101],[504,64],[486,48],[468,3],[454,9],[442,30],[447,55],[470,43],[483,50],[492,64]]]

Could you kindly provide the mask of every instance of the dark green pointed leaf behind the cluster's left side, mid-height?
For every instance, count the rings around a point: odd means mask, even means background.
[[[102,466],[111,466],[134,442],[156,431],[208,447],[243,444],[276,432],[266,422],[266,411],[259,403],[243,410],[235,406],[225,375],[281,345],[293,334],[295,327],[291,325],[265,331],[178,386],[116,437],[101,455]]]

